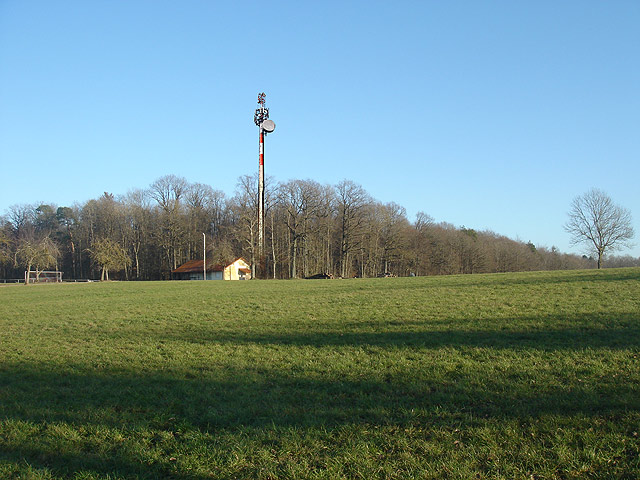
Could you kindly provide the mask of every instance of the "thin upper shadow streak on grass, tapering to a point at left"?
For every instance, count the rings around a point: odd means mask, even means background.
[[[486,321],[496,324],[492,330],[475,329],[469,319],[452,319],[452,325],[467,324],[468,330],[438,329],[428,322],[360,322],[358,327],[365,331],[314,331],[313,325],[302,325],[304,331],[262,332],[212,329],[181,330],[179,325],[161,334],[150,333],[158,341],[183,341],[197,344],[256,344],[256,345],[294,345],[294,346],[353,346],[353,347],[413,347],[443,348],[470,347],[494,349],[534,349],[540,351],[583,350],[583,349],[635,349],[640,348],[640,315],[635,313],[616,314],[615,318],[598,315],[567,317],[549,317],[546,319],[514,318]],[[499,322],[499,323],[498,323]],[[570,328],[540,328],[541,322],[550,325],[575,325]],[[441,327],[443,322],[438,323]],[[608,327],[602,324],[614,324]],[[533,325],[527,330],[513,330],[509,325]],[[371,331],[373,330],[373,331]],[[379,331],[376,331],[379,330]]]

